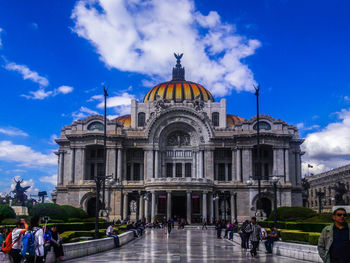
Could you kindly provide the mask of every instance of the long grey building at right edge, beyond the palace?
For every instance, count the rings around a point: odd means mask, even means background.
[[[342,183],[345,187],[345,193],[342,199],[345,205],[350,205],[350,193],[348,192],[350,184],[350,164],[324,173],[307,176],[306,179],[309,184],[307,207],[318,211],[321,205],[323,212],[332,212],[332,207],[336,205],[337,198],[335,188],[339,187],[339,183]],[[321,204],[317,193],[321,193],[322,195]]]

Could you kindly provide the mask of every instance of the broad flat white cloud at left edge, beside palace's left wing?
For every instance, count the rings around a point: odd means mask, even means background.
[[[11,141],[0,141],[0,160],[26,167],[57,166],[57,156],[53,152],[44,154]]]

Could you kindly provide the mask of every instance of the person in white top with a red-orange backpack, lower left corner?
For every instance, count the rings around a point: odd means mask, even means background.
[[[20,263],[22,260],[21,248],[23,235],[27,232],[28,225],[26,221],[22,218],[16,223],[16,227],[12,230],[12,243],[13,246],[10,251],[10,256],[13,263]]]

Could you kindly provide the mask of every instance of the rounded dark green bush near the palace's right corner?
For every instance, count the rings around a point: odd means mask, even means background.
[[[306,207],[296,206],[287,207],[281,206],[277,208],[277,220],[278,221],[302,221],[311,217],[316,216],[317,213]],[[269,216],[269,221],[274,219],[274,212]]]

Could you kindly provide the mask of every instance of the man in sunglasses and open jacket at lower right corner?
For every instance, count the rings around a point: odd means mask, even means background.
[[[326,226],[318,240],[318,254],[325,263],[350,262],[350,233],[346,222],[346,210],[333,211],[334,224]]]

